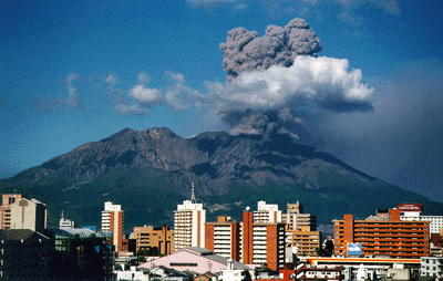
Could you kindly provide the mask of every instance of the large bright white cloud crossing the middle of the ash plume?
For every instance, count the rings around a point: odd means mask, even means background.
[[[208,91],[223,107],[238,110],[279,110],[300,100],[322,105],[369,102],[373,89],[361,82],[360,70],[348,67],[348,60],[298,55],[290,67],[243,73],[226,85],[208,84]]]

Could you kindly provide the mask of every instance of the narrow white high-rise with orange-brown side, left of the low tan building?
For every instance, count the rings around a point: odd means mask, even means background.
[[[102,232],[112,232],[112,244],[116,251],[122,251],[123,242],[123,210],[122,206],[111,201],[104,204],[102,211]]]

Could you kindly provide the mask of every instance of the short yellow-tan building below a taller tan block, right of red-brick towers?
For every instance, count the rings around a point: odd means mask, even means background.
[[[320,231],[311,231],[310,227],[303,226],[301,230],[292,230],[289,233],[288,240],[297,256],[313,257],[317,256],[317,249],[321,249]]]

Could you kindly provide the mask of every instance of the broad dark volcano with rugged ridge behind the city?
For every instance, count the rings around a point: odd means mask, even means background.
[[[280,209],[299,200],[321,223],[349,212],[369,216],[402,201],[443,211],[440,202],[276,132],[205,132],[183,138],[165,127],[125,128],[2,179],[0,188],[11,192],[14,187],[47,202],[52,226],[61,210],[78,223],[99,225],[103,202],[111,200],[122,205],[131,228],[172,225],[176,205],[190,196],[190,183],[210,210],[208,220],[217,215],[239,219],[243,209],[258,200],[279,204]]]

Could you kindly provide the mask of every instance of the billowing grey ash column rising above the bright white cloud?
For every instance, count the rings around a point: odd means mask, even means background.
[[[244,71],[291,66],[298,54],[316,56],[321,51],[321,41],[303,19],[296,18],[285,28],[268,25],[262,38],[245,28],[233,29],[220,50],[223,67],[231,81]]]

